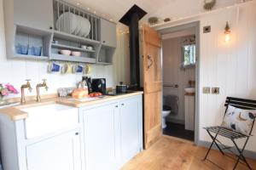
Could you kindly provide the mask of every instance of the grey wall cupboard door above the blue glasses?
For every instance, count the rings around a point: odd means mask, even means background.
[[[49,30],[53,26],[52,0],[13,0],[15,24]]]

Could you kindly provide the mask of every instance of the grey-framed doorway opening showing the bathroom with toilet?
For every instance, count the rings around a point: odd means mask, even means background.
[[[159,32],[163,61],[163,133],[197,143],[199,22]]]

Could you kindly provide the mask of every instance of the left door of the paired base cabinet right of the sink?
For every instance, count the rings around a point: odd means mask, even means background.
[[[117,106],[117,107],[116,107]],[[118,132],[118,104],[84,110],[85,166],[88,170],[116,169],[115,143]]]

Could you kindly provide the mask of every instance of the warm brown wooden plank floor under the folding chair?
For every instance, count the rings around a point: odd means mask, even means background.
[[[222,156],[218,150],[211,150],[208,159],[201,161],[207,152],[206,148],[192,142],[173,137],[162,136],[151,148],[144,150],[122,167],[122,170],[230,170],[235,161]],[[256,160],[247,160],[255,169]],[[237,170],[247,169],[239,164]]]

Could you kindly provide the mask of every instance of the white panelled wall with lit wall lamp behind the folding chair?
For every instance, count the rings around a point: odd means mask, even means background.
[[[212,32],[201,33],[200,51],[200,139],[210,141],[202,127],[219,125],[227,96],[256,99],[256,4],[230,8],[201,17]],[[224,42],[224,26],[230,22],[231,41]],[[219,87],[220,94],[202,94],[203,87]],[[254,129],[253,134],[256,134]],[[247,150],[256,151],[256,137]]]

